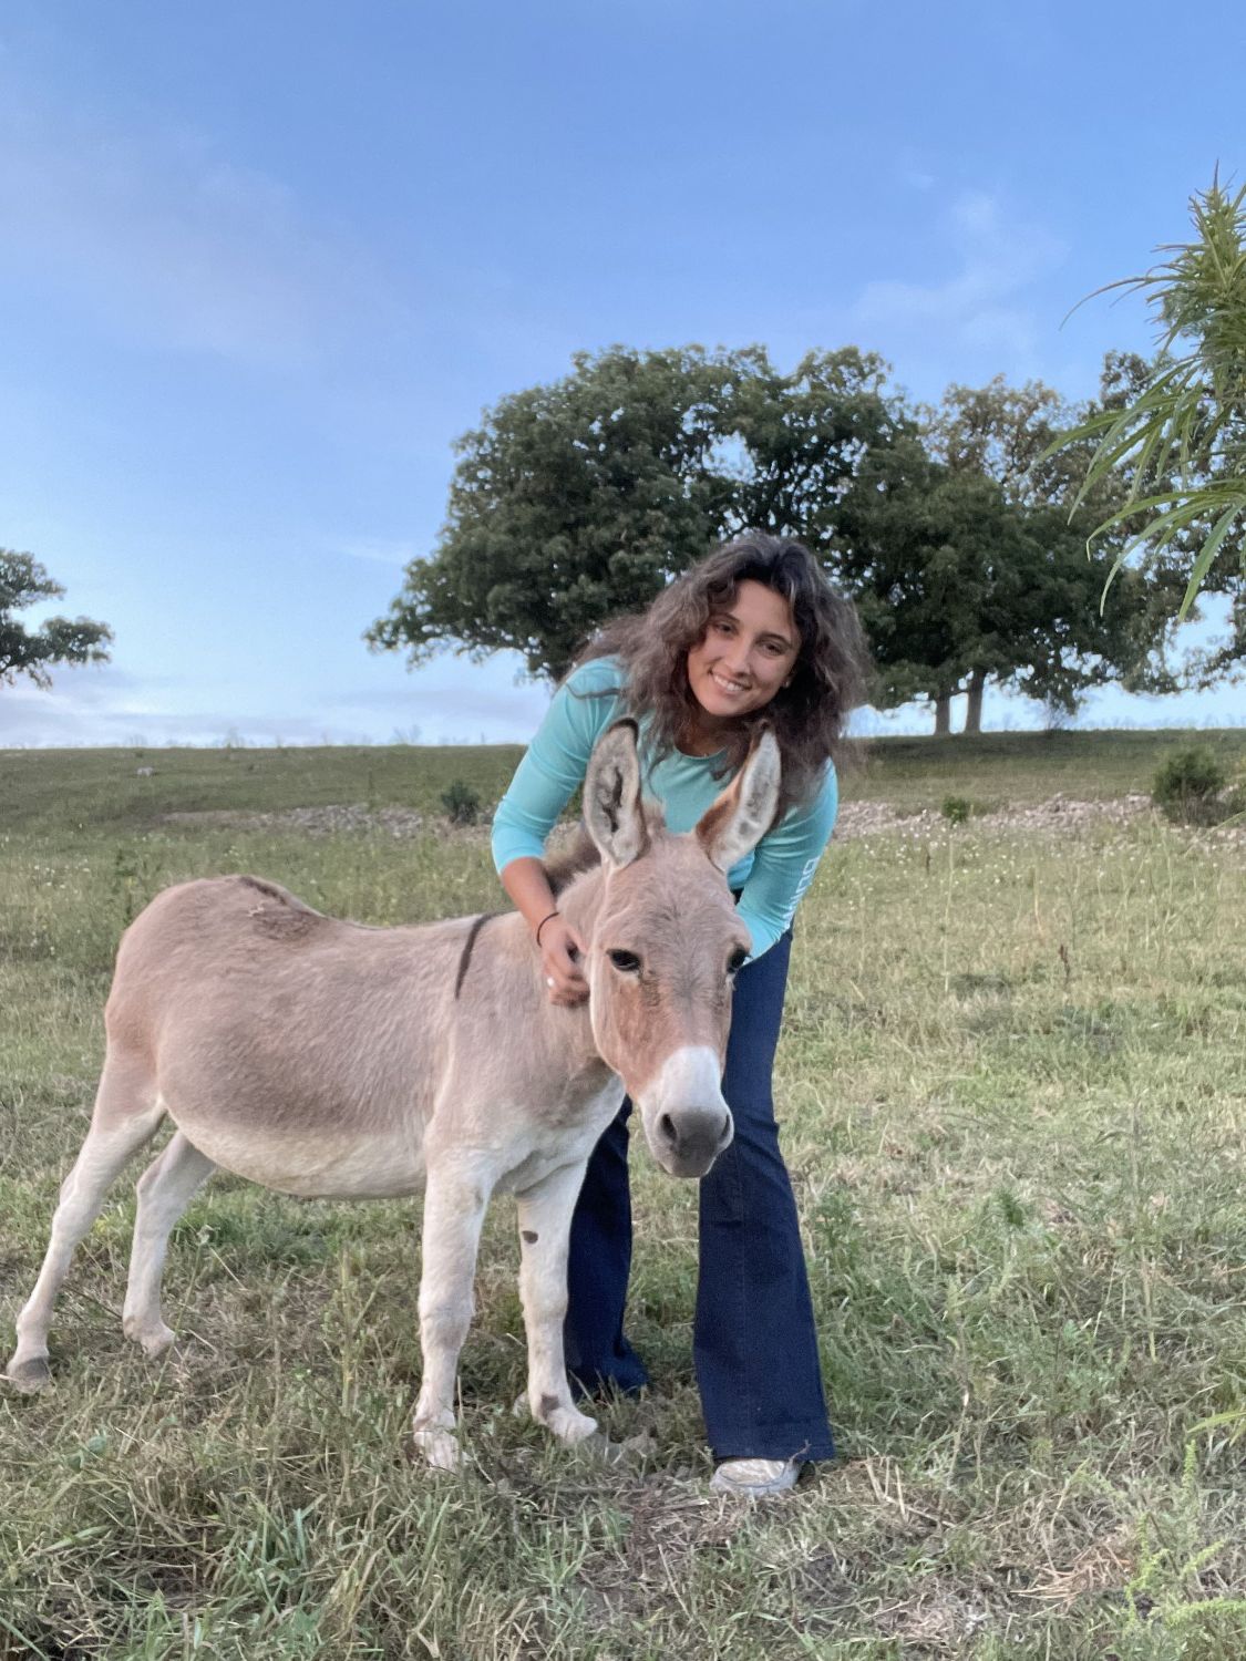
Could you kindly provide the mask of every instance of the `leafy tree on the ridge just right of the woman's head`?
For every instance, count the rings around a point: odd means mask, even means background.
[[[1128,369],[1110,362],[1105,387]],[[1176,689],[1163,656],[1176,608],[1168,573],[1131,571],[1108,611],[1096,605],[1110,553],[1087,561],[1090,505],[1068,517],[1088,452],[1045,453],[1063,414],[1038,382],[950,387],[924,412],[924,434],[864,460],[841,505],[837,570],[871,633],[882,698],[927,698],[935,733],[950,731],[957,693],[965,731],[980,731],[990,681],[1055,711],[1111,679]]]

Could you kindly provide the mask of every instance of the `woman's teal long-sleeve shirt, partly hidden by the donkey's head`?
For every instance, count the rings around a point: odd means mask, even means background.
[[[558,814],[585,781],[593,746],[621,714],[626,714],[623,671],[615,658],[595,658],[568,674],[493,816],[493,864],[498,872],[513,859],[543,857],[545,839]],[[691,830],[729,782],[714,777],[721,757],[673,751],[655,761],[646,734],[648,723],[641,718],[645,794],[661,802],[671,830]],[[831,840],[837,809],[836,771],[827,762],[812,801],[789,807],[728,874],[731,887],[739,892],[739,919],[753,938],[753,957],[769,952],[791,924]]]

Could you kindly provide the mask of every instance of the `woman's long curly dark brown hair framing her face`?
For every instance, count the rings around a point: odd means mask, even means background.
[[[746,581],[782,595],[792,608],[801,651],[782,691],[724,733],[721,771],[734,772],[758,728],[768,726],[782,756],[782,814],[817,794],[827,761],[842,767],[849,759],[844,728],[849,713],[864,703],[869,676],[856,606],[831,586],[804,543],[761,532],[723,543],[665,588],[646,611],[606,623],[576,663],[618,658],[630,713],[648,716],[656,754],[670,754],[698,711],[688,683],[688,653],[704,639],[709,620],[734,605]]]

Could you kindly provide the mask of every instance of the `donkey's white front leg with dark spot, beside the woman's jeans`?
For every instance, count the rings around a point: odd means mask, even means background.
[[[562,1442],[583,1442],[596,1420],[571,1400],[563,1360],[567,1316],[567,1242],[571,1213],[585,1179],[583,1161],[565,1164],[517,1194],[520,1227],[520,1297],[528,1332],[528,1407]]]

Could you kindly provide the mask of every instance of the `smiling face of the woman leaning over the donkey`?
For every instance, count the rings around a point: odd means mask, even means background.
[[[796,668],[801,636],[792,608],[773,588],[746,578],[734,601],[714,611],[688,653],[688,684],[714,724],[763,709]]]

